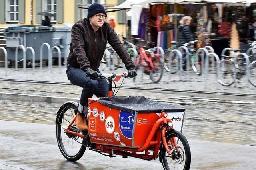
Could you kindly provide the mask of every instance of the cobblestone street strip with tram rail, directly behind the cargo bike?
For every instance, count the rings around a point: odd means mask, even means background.
[[[128,80],[132,81],[132,80]],[[79,100],[81,88],[65,84],[1,81],[0,92],[70,97]],[[132,96],[133,89],[120,89],[118,96]],[[136,90],[159,102],[186,108],[183,133],[192,139],[256,146],[255,100],[186,95],[180,92]],[[64,101],[63,101],[64,103]],[[54,124],[61,103],[0,100],[0,119]]]

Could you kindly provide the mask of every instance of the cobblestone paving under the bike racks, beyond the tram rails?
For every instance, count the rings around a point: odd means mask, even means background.
[[[126,70],[119,68],[116,71],[105,70],[102,73],[122,73]],[[123,85],[124,87],[138,87],[138,88],[164,88],[169,90],[188,90],[188,91],[199,91],[199,92],[214,92],[214,93],[236,93],[236,94],[256,94],[256,88],[251,84],[246,83],[246,76],[243,76],[241,80],[237,81],[236,87],[233,85],[229,87],[222,86],[217,83],[216,74],[209,74],[208,76],[208,86],[204,88],[205,75],[197,76],[194,72],[190,71],[189,73],[184,72],[182,80],[180,80],[178,74],[168,74],[164,72],[164,76],[159,83],[152,83],[149,76],[142,74],[141,69],[138,70],[138,76],[136,81],[125,80]],[[143,75],[143,76],[142,76]],[[170,77],[171,76],[171,77]],[[142,81],[143,77],[143,81]],[[59,70],[58,66],[53,66],[52,73],[48,70],[47,67],[35,69],[34,75],[32,74],[32,68],[27,68],[26,74],[22,71],[22,68],[18,68],[18,71],[15,71],[14,68],[8,68],[8,76],[5,76],[5,70],[3,67],[0,67],[0,78],[1,79],[16,79],[16,80],[36,80],[36,81],[49,81],[49,82],[65,82],[70,83],[66,77],[66,68],[65,66],[61,67]],[[256,77],[253,78],[256,80]],[[118,82],[117,84],[120,84]],[[218,88],[218,89],[217,89]]]

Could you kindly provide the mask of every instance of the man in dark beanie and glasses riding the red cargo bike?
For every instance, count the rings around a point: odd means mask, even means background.
[[[85,116],[88,113],[88,98],[108,96],[108,82],[95,80],[100,76],[98,69],[106,49],[107,41],[122,59],[129,76],[136,76],[134,62],[124,48],[114,29],[105,22],[106,10],[101,4],[93,3],[88,8],[87,18],[75,23],[71,30],[70,53],[67,59],[68,80],[83,88],[80,102],[75,109],[76,127],[87,131]],[[92,78],[92,79],[91,79]]]

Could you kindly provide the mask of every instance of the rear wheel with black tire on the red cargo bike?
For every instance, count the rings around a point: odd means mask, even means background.
[[[67,120],[66,125],[68,125],[68,122],[72,121],[73,117],[75,116],[75,115],[73,115],[73,113],[74,113],[73,110],[75,108],[76,108],[76,105],[73,104],[72,102],[66,103],[64,105],[63,109],[60,110],[60,113],[58,114],[58,117],[57,117],[57,123],[56,123],[56,137],[57,137],[58,147],[59,147],[62,155],[67,160],[70,160],[70,161],[79,160],[84,155],[84,152],[86,150],[86,145],[85,145],[84,139],[81,139],[80,137],[77,137],[75,135],[68,135],[67,133],[63,133],[64,129],[65,129],[64,121]],[[65,113],[66,114],[72,113],[72,115],[67,115],[67,117],[64,117]],[[68,118],[68,117],[70,117],[70,118]],[[63,126],[62,126],[62,121],[63,121]],[[78,130],[76,129],[76,126],[74,124],[72,125],[72,129],[74,131],[78,132]],[[76,149],[76,151],[74,151],[74,154],[68,153],[68,151],[67,151],[68,147],[64,146],[64,141],[62,140],[63,134],[65,134],[64,137],[66,137],[66,138],[64,138],[64,140],[68,139],[68,141],[71,141],[71,143],[75,142],[76,144],[79,145],[78,148]],[[80,143],[82,143],[82,144],[78,143],[78,140],[75,140],[75,139],[79,139]],[[68,144],[70,144],[70,143],[68,142]],[[71,150],[71,152],[72,152],[72,150]]]

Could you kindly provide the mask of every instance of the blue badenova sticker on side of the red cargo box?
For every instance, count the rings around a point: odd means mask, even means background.
[[[129,139],[132,138],[133,123],[134,123],[134,113],[120,111],[119,127],[122,134]]]

